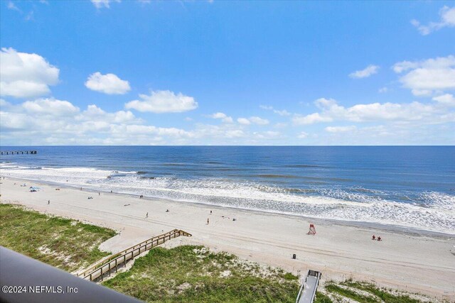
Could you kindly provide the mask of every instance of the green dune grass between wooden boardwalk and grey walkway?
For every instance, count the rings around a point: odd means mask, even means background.
[[[203,246],[154,248],[103,283],[147,302],[295,302],[299,280]]]

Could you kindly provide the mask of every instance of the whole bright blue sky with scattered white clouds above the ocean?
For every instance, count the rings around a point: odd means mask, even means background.
[[[1,145],[453,145],[454,1],[1,1]]]

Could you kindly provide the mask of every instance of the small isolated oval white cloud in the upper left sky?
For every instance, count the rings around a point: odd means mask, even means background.
[[[85,82],[85,87],[105,94],[126,94],[131,89],[128,81],[114,74],[101,75],[100,72],[90,75]]]

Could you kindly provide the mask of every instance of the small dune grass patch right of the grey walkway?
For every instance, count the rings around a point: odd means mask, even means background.
[[[327,295],[332,294],[336,298],[335,302],[343,299],[353,299],[360,303],[421,303],[419,299],[412,299],[407,294],[392,294],[390,290],[379,288],[370,282],[357,282],[346,280],[336,285],[335,282],[326,282],[324,286],[326,295],[318,297],[321,292],[316,293],[316,302],[333,302]]]

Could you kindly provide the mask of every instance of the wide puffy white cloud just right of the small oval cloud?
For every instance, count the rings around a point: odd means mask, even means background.
[[[181,113],[191,111],[198,107],[198,102],[193,97],[184,94],[174,94],[171,91],[155,91],[150,95],[139,94],[139,100],[129,101],[125,104],[127,109],[137,111],[150,111],[152,113]]]

